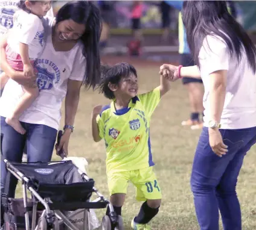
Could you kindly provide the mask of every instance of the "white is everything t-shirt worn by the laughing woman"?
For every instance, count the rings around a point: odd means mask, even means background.
[[[66,96],[68,79],[83,81],[86,58],[83,44],[78,42],[71,51],[58,52],[53,47],[51,30],[54,19],[44,19],[45,48],[35,61],[38,70],[39,96],[22,114],[22,122],[59,128],[60,108]],[[0,99],[0,116],[7,117],[23,95],[21,85],[9,79]]]

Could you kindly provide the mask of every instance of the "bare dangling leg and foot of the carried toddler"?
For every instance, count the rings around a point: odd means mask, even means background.
[[[12,126],[17,132],[20,134],[25,134],[25,129],[22,127],[21,122],[19,122],[19,117],[28,107],[32,104],[32,102],[37,98],[39,95],[39,89],[37,87],[23,87],[24,95],[22,95],[21,101],[17,105],[16,109],[14,110],[13,114],[10,117],[5,119],[5,122]]]

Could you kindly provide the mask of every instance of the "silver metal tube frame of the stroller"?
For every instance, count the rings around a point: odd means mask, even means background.
[[[51,161],[48,164],[58,163],[58,162],[60,162],[60,161]],[[45,229],[48,229],[48,226],[50,226],[51,229],[59,230],[60,225],[62,225],[63,223],[66,226],[68,226],[68,228],[71,230],[82,230],[82,229],[78,229],[77,226],[75,226],[74,223],[71,223],[71,221],[68,219],[68,218],[73,217],[73,216],[77,215],[78,213],[82,213],[82,212],[83,212],[83,230],[91,229],[90,228],[91,226],[89,223],[89,209],[92,209],[95,207],[84,208],[84,210],[75,210],[75,211],[72,211],[72,213],[68,214],[68,216],[65,216],[65,214],[63,214],[62,211],[60,211],[60,210],[53,211],[50,209],[50,206],[48,205],[48,203],[52,203],[51,200],[49,198],[43,199],[39,195],[39,193],[37,193],[37,191],[34,190],[34,188],[31,186],[30,178],[25,176],[20,170],[18,170],[15,166],[13,166],[13,164],[11,164],[10,161],[8,161],[7,159],[4,159],[4,163],[6,164],[7,170],[12,175],[14,175],[19,181],[22,182],[23,200],[24,200],[25,210],[27,210],[27,208],[28,208],[27,190],[29,190],[31,192],[31,196],[33,199],[32,222],[31,222],[31,228],[30,228],[29,214],[28,214],[28,211],[26,211],[25,212],[25,229],[26,230],[30,230],[30,229],[45,230]],[[27,164],[29,164],[29,163],[27,163]],[[82,176],[82,178],[85,179],[85,181],[90,180],[90,178],[86,175],[86,173],[82,172],[78,168],[77,168],[77,170],[80,173],[80,175]],[[95,187],[93,187],[92,190],[93,190],[92,192],[96,193],[98,197],[97,197],[97,199],[88,202],[88,204],[101,203],[101,205],[104,205],[104,207],[108,206],[109,210],[110,210],[110,214],[109,214],[110,222],[114,223],[114,224],[118,224],[118,222],[120,221],[120,218],[115,213],[114,207],[110,204],[109,200],[104,198],[104,196]],[[36,226],[36,213],[37,213],[38,202],[40,202],[43,205],[43,207],[45,208],[45,210],[43,210],[42,215],[39,218],[39,222],[40,221],[43,222],[43,223],[41,223],[41,226],[39,226],[39,224]],[[104,216],[104,217],[106,217],[106,216]],[[104,220],[104,217],[103,217],[103,220]],[[45,220],[47,223],[45,222]],[[103,228],[103,229],[108,230],[109,228]]]

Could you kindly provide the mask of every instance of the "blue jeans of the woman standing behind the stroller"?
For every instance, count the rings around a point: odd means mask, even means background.
[[[5,117],[1,117],[1,133],[4,134],[2,141],[3,157],[9,161],[21,162],[23,149],[27,142],[28,162],[51,161],[57,130],[46,125],[36,125],[25,122],[21,122],[21,124],[27,131],[25,135],[16,132],[10,125],[7,125]],[[2,159],[1,193],[4,192],[6,176],[7,170]],[[11,176],[10,197],[14,197],[17,182],[17,179]]]

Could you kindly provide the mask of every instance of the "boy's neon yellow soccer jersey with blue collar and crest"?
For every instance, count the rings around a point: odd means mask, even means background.
[[[153,166],[149,123],[160,101],[159,87],[135,96],[127,108],[115,110],[114,102],[97,116],[100,137],[106,144],[107,172]]]

